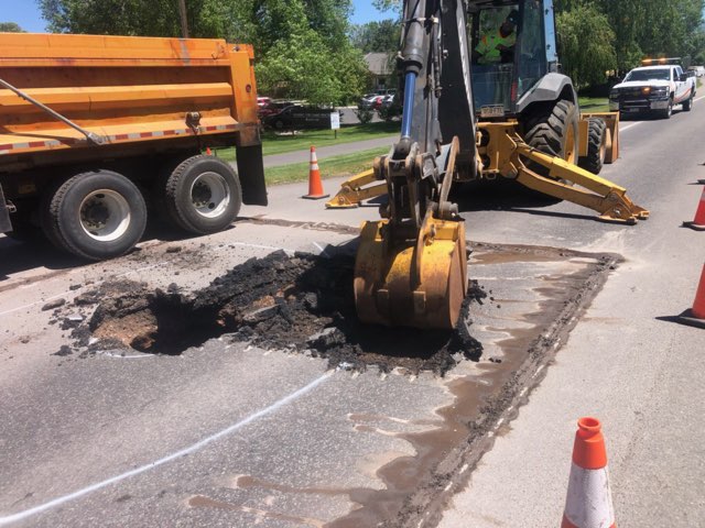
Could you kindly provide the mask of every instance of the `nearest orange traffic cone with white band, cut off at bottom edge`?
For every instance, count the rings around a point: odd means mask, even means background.
[[[577,427],[561,528],[616,528],[600,422],[585,417]]]

